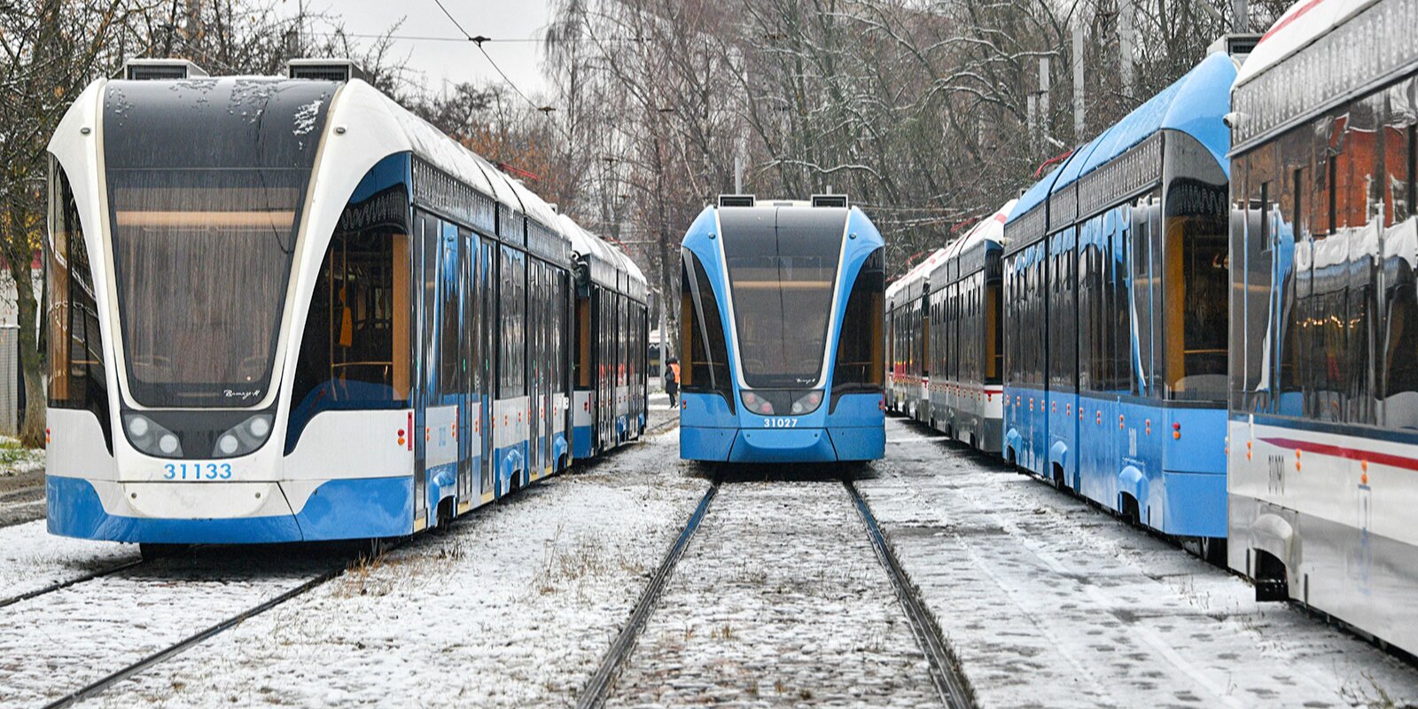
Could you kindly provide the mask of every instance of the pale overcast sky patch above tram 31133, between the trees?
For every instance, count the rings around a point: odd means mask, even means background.
[[[281,0],[282,10],[292,16],[301,0]],[[345,18],[350,34],[379,34],[403,20],[396,35],[407,37],[394,43],[398,57],[408,57],[408,67],[423,75],[430,89],[445,81],[486,84],[501,81],[498,72],[482,57],[478,47],[462,41],[434,41],[417,37],[459,38],[462,33],[438,9],[434,0],[303,0],[306,13],[325,11]],[[493,40],[484,48],[508,74],[508,78],[527,95],[543,92],[542,31],[550,18],[547,0],[442,0],[458,24],[468,34]],[[367,45],[373,40],[360,38]],[[417,74],[414,75],[417,79]]]

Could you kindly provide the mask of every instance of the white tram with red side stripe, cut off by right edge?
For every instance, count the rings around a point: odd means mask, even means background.
[[[1415,34],[1296,3],[1235,81],[1228,563],[1418,654]]]

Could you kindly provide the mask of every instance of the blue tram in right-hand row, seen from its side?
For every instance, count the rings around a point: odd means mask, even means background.
[[[1076,149],[1005,224],[1003,454],[1133,520],[1227,536],[1227,228],[1238,61]]]

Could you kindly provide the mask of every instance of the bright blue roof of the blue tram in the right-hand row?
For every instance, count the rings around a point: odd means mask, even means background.
[[[1219,164],[1227,166],[1225,156],[1231,136],[1222,116],[1229,106],[1227,96],[1235,77],[1235,58],[1225,52],[1211,54],[1180,79],[1075,150],[1062,167],[1037,182],[1020,197],[1005,223],[1005,231],[1010,234],[1005,251],[1012,254],[1044,238],[1056,227],[1106,207],[1095,204],[1096,200],[1089,200],[1086,196],[1079,197],[1079,184],[1163,130],[1190,135],[1207,147]],[[1160,145],[1156,150],[1160,150]]]

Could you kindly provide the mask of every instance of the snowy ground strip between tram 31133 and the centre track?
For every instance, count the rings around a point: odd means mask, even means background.
[[[475,510],[85,705],[567,706],[708,486],[676,442]]]

